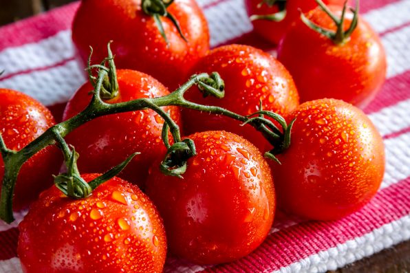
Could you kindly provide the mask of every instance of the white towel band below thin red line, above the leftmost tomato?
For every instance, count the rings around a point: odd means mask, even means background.
[[[76,61],[30,74],[21,74],[0,82],[1,87],[15,89],[32,96],[44,105],[67,102],[85,83],[85,72]]]

